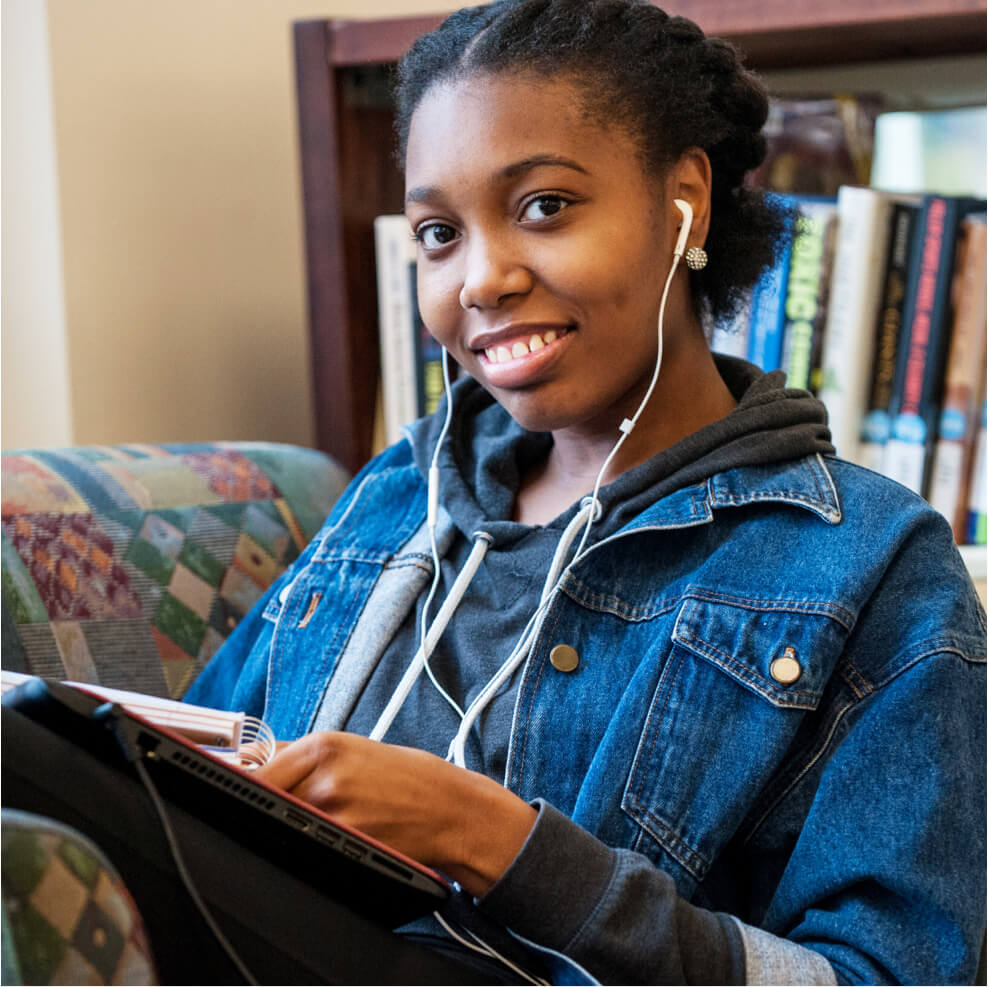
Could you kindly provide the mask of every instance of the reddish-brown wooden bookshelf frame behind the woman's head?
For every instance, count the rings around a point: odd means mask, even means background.
[[[983,54],[985,0],[679,0],[760,71]],[[401,210],[389,72],[445,16],[294,25],[316,441],[370,457],[378,387],[374,217]]]

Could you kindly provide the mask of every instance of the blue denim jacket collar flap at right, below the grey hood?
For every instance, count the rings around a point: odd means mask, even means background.
[[[840,501],[826,461],[819,453],[785,463],[739,466],[703,483],[684,487],[639,515],[622,531],[684,528],[713,520],[719,508],[782,503],[839,524]]]

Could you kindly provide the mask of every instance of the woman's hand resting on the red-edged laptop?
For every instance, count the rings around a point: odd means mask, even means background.
[[[485,775],[349,733],[285,744],[256,775],[441,870],[476,897],[507,870],[537,815]]]

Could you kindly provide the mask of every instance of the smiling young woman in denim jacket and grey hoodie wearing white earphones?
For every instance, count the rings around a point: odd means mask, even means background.
[[[189,698],[263,714],[268,781],[563,981],[970,982],[985,625],[950,529],[704,335],[785,228],[743,184],[765,115],[637,0],[416,43],[419,304],[469,376]]]

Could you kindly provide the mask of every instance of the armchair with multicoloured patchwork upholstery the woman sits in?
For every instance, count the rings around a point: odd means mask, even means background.
[[[272,443],[4,453],[3,667],[181,697],[346,479]],[[157,982],[97,847],[6,808],[2,842],[3,983]]]

